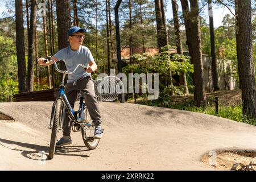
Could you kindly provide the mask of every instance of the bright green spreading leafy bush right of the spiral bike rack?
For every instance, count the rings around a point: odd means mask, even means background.
[[[182,73],[193,72],[193,65],[189,63],[189,57],[168,52],[168,46],[162,48],[162,52],[152,56],[144,53],[143,55],[133,55],[134,64],[129,64],[122,68],[122,71],[128,73],[158,73],[159,74],[159,92],[160,100],[170,100],[171,93],[181,95],[185,93],[184,86],[176,84],[172,75],[181,75]]]

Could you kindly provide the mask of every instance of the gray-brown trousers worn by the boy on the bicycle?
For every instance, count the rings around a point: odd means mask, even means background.
[[[94,82],[92,77],[88,76],[81,78],[81,80],[76,81],[75,85],[73,85],[73,82],[65,85],[65,94],[72,108],[74,108],[77,92],[79,90],[81,90],[82,97],[84,97],[85,105],[88,109],[88,113],[90,114],[90,118],[92,118],[92,122],[95,126],[99,126],[101,124],[101,115],[100,110],[98,109],[98,102],[94,92]],[[66,109],[65,119],[63,122],[63,135],[70,136],[70,133],[71,122],[68,118],[68,111]]]

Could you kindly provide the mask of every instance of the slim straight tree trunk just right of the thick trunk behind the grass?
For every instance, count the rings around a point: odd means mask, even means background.
[[[213,82],[213,92],[215,92],[215,91],[219,90],[219,88],[218,88],[217,63],[216,63],[216,55],[215,55],[212,0],[208,0],[208,7],[209,7],[209,22],[210,22],[210,53],[212,56],[212,82]]]

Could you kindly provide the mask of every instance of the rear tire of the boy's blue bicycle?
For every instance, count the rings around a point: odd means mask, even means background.
[[[89,150],[93,150],[95,149],[97,146],[98,146],[98,143],[100,142],[100,139],[93,139],[92,141],[88,141],[86,140],[86,130],[92,130],[94,131],[94,125],[91,125],[91,126],[86,126],[84,125],[85,124],[85,121],[86,123],[90,123],[92,124],[92,121],[88,119],[89,117],[89,114],[88,114],[88,111],[87,109],[85,109],[83,111],[83,121],[82,121],[82,127],[81,127],[81,131],[82,131],[82,140],[84,141],[84,144],[85,146],[89,149]],[[89,121],[89,122],[88,122]],[[90,128],[91,127],[91,128]],[[90,128],[90,129],[89,129]],[[94,135],[94,133],[92,134],[92,136]],[[92,137],[92,136],[89,136],[89,137]]]

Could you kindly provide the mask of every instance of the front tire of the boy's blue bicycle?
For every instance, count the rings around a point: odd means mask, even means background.
[[[63,103],[59,99],[56,102],[55,105],[55,111],[53,114],[53,123],[52,123],[52,134],[51,134],[51,142],[49,146],[49,158],[53,159],[53,156],[55,154],[55,148],[56,148],[56,139],[57,139],[57,133],[59,132],[59,123],[61,119],[61,114],[62,114],[62,107]]]

